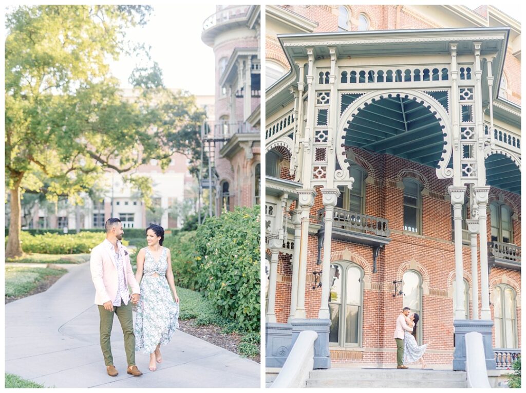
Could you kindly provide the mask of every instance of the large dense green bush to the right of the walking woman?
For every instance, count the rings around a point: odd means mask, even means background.
[[[241,330],[260,329],[259,206],[207,218],[195,236],[197,288]]]

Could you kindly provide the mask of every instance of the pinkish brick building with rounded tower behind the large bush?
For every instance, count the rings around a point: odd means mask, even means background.
[[[216,59],[216,118],[205,137],[216,215],[259,204],[259,31],[259,6],[218,5],[203,24],[201,37]]]

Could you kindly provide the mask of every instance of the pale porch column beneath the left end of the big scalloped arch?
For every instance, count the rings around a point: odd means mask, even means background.
[[[325,207],[325,217],[323,218],[323,264],[321,274],[321,305],[318,318],[329,319],[329,292],[330,292],[330,255],[332,243],[332,221],[334,207],[338,201],[340,190],[338,188],[321,189],[323,196],[323,206]]]

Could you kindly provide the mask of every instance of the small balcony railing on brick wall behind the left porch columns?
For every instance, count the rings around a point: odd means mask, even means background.
[[[318,223],[323,224],[325,208],[318,210]],[[333,212],[333,228],[340,228],[371,235],[389,237],[389,221],[385,218],[368,216],[345,209],[335,208]]]

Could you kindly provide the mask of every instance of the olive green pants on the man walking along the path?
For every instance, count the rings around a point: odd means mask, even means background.
[[[100,348],[104,355],[106,366],[113,365],[112,345],[110,336],[112,335],[113,316],[117,314],[120,326],[123,328],[124,349],[128,366],[135,366],[135,334],[133,332],[133,315],[131,314],[131,300],[127,305],[120,301],[120,306],[113,306],[113,311],[108,311],[104,306],[98,306],[100,315]]]

